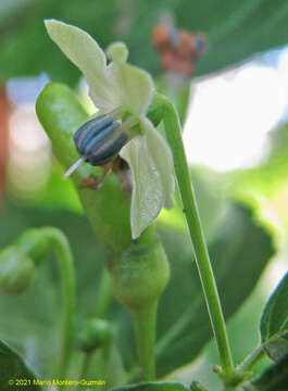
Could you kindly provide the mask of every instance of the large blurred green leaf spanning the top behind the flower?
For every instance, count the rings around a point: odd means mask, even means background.
[[[179,28],[206,34],[209,50],[197,64],[198,75],[288,43],[286,0],[17,0],[16,3],[13,7],[11,1],[8,4],[5,0],[3,5],[1,2],[0,11],[9,17],[0,17],[0,79],[47,72],[54,80],[75,85],[78,71],[45,31],[42,21],[49,17],[84,28],[103,48],[114,40],[126,41],[130,61],[152,73],[159,70],[159,59],[150,37],[163,11],[175,16]]]

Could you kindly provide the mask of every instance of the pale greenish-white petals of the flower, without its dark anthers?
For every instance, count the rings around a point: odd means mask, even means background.
[[[174,192],[173,157],[166,141],[146,117],[153,96],[150,75],[127,64],[128,50],[122,42],[108,49],[107,56],[90,35],[59,21],[46,21],[51,39],[82,71],[89,96],[104,113],[121,109],[139,123],[139,133],[121,150],[133,173],[130,225],[134,239],[159,215],[172,207]]]

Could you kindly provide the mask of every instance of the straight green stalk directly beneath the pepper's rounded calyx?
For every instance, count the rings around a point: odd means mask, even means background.
[[[137,351],[143,380],[151,381],[155,378],[155,324],[158,302],[140,307],[133,313],[134,328],[137,341]]]

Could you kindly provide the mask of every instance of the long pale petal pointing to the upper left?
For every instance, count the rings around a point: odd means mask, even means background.
[[[99,109],[113,110],[113,87],[107,75],[105,54],[93,38],[83,29],[55,20],[45,21],[50,38],[80,70]]]

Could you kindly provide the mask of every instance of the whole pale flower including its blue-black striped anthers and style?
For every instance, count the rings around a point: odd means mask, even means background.
[[[172,207],[173,157],[163,137],[146,113],[153,96],[150,75],[127,64],[128,50],[122,42],[107,51],[111,63],[90,35],[72,25],[48,20],[50,38],[80,70],[99,116],[84,124],[74,136],[80,159],[66,173],[84,163],[104,165],[120,153],[133,174],[132,236],[140,236],[159,215]]]

